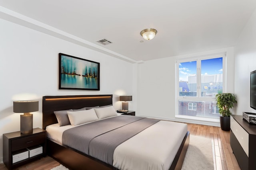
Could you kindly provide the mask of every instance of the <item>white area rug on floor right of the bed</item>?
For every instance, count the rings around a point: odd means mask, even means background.
[[[214,170],[212,139],[190,135],[182,170]]]

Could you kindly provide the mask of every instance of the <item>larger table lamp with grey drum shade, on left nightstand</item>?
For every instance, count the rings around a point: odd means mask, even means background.
[[[14,101],[13,112],[20,115],[20,133],[33,132],[33,115],[30,112],[38,111],[38,101]]]

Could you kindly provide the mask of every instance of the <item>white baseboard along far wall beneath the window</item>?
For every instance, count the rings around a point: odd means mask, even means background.
[[[198,121],[198,120],[192,120],[192,119],[179,119],[179,118],[166,118],[166,117],[155,117],[155,116],[148,116],[148,115],[136,115],[141,117],[148,117],[152,119],[161,119],[161,120],[167,120],[167,121],[177,121],[182,123],[193,123],[198,125],[208,125],[208,126],[216,126],[220,127],[219,122],[211,122],[211,121]]]

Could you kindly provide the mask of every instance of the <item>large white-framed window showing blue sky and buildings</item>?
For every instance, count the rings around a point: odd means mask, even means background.
[[[177,61],[178,115],[218,118],[215,96],[223,92],[223,59],[212,55]]]

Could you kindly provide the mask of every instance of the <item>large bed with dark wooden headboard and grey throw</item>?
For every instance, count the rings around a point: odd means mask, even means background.
[[[84,123],[81,126],[80,125],[75,127],[72,125],[62,126],[61,127],[62,130],[60,130],[60,132],[52,133],[54,135],[50,135],[51,131],[54,131],[54,130],[50,130],[50,127],[53,127],[52,129],[59,129],[59,125],[57,124],[58,121],[56,119],[56,115],[54,114],[54,111],[80,109],[82,107],[93,107],[93,106],[110,106],[112,105],[112,98],[113,98],[112,95],[44,96],[42,99],[43,129],[48,129],[49,131],[48,138],[47,138],[47,154],[52,158],[58,160],[63,165],[70,168],[70,170],[118,170],[118,169],[123,170],[123,169],[128,169],[129,167],[132,167],[132,166],[136,167],[137,169],[141,169],[141,168],[138,168],[138,166],[145,167],[144,166],[145,164],[148,164],[148,162],[153,162],[155,160],[158,161],[157,160],[158,158],[161,159],[160,161],[164,162],[164,165],[162,166],[165,166],[165,167],[163,169],[168,169],[168,170],[181,169],[182,163],[186,154],[186,150],[189,145],[189,132],[184,131],[184,129],[182,130],[182,132],[177,131],[177,129],[179,128],[182,129],[184,127],[183,123],[159,121],[156,119],[148,119],[148,118],[137,117],[137,116],[120,115],[120,116],[106,117],[101,120],[93,121],[92,123]],[[107,130],[107,128],[96,128],[100,125],[100,122],[105,122],[105,123],[108,123],[108,121],[119,122],[121,119],[126,122],[125,125],[123,126],[120,124],[118,125],[119,126],[118,128],[112,127],[114,130],[113,129]],[[125,131],[128,131],[127,133],[130,134],[130,129],[137,130],[138,129],[137,127],[140,128],[140,125],[144,125],[145,123],[148,123],[148,125],[145,125],[145,127],[142,128],[141,131],[136,132],[135,135],[131,135],[131,137],[128,137],[128,139],[121,141],[119,144],[116,143],[116,141],[118,141],[119,139],[118,137],[117,137],[118,139],[113,139],[113,136],[119,136],[115,134],[115,133],[118,133],[118,131],[121,132],[120,133],[121,135],[123,133],[126,134]],[[112,124],[114,123],[111,123],[111,125]],[[78,148],[73,146],[71,147],[69,146],[69,144],[65,143],[65,141],[70,141],[70,139],[74,139],[74,137],[72,136],[69,137],[68,135],[66,135],[67,136],[67,139],[66,139],[64,137],[64,134],[66,134],[68,131],[71,131],[71,130],[73,130],[73,132],[72,131],[70,132],[71,135],[74,133],[74,131],[82,132],[83,131],[81,130],[82,126],[85,126],[86,129],[89,129],[88,127],[90,127],[94,129],[96,133],[98,133],[97,131],[102,131],[97,129],[104,129],[104,130],[106,129],[106,131],[111,131],[111,133],[108,132],[110,137],[105,137],[106,136],[105,132],[103,133],[101,132],[103,135],[96,135],[95,137],[92,137],[95,143],[90,143],[90,153],[87,153],[84,150],[78,149],[79,147]],[[86,133],[91,135],[90,131],[91,130],[88,130]],[[116,132],[114,133],[114,131]],[[177,139],[179,141],[178,143],[174,143],[173,141],[175,140],[170,140],[174,136],[174,135],[172,136],[172,134],[169,134],[169,132],[171,131],[172,133],[176,133],[176,135],[181,135],[179,137],[180,139]],[[168,134],[166,135],[166,133]],[[169,139],[169,143],[166,143],[166,142],[162,143],[162,141],[164,140],[162,140],[161,137],[163,137],[164,134],[166,135],[166,139]],[[64,137],[63,138],[64,141],[62,141],[61,137]],[[120,139],[122,138],[123,137],[120,137]],[[104,146],[101,146],[98,143],[105,141],[105,139],[110,140],[110,141],[106,141],[106,144],[116,143],[116,148],[112,149],[113,152],[111,154],[108,153],[107,151],[104,151],[106,152],[106,155],[112,155],[112,159],[110,156],[108,157],[109,159],[108,161],[105,161],[101,157],[97,157],[97,154],[99,152],[98,150],[105,149]],[[78,139],[74,141],[78,141]],[[106,145],[106,144],[103,144],[103,145]],[[166,147],[170,149],[176,149],[175,153],[173,151],[169,151],[170,153],[168,153],[167,151],[160,152],[161,151],[160,146],[162,145],[166,145]],[[93,149],[95,149],[95,151],[93,151]],[[152,156],[147,156],[147,155],[150,155],[150,153],[152,153],[151,151],[154,151],[154,153],[156,152],[157,154],[159,154],[158,156],[156,154],[157,158]],[[92,153],[96,153],[96,156]],[[136,168],[132,168],[132,169],[136,169]],[[145,169],[154,169],[154,165],[149,165],[148,168],[145,168]]]

